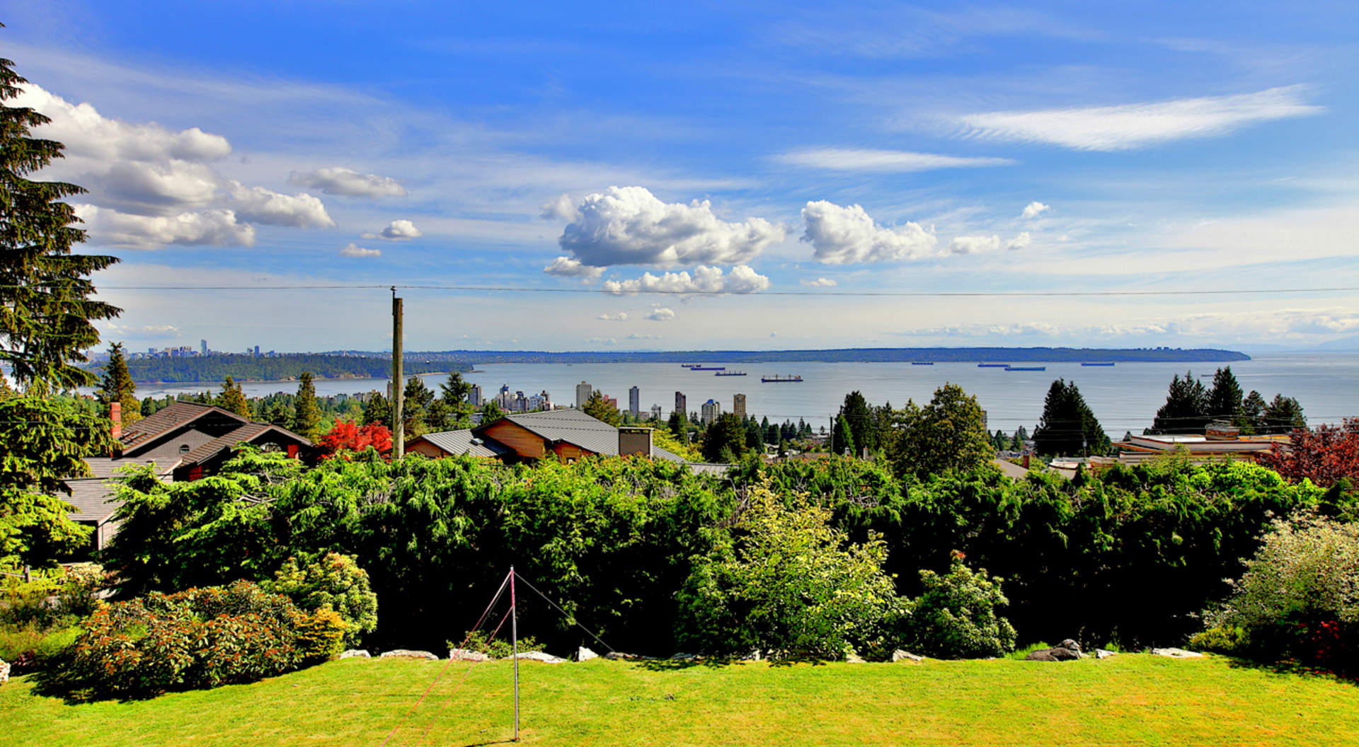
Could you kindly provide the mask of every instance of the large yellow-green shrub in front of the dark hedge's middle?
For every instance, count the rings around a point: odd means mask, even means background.
[[[883,573],[886,546],[848,543],[805,496],[786,505],[754,486],[731,546],[694,566],[680,592],[678,644],[711,653],[841,659],[892,651],[902,611]]]

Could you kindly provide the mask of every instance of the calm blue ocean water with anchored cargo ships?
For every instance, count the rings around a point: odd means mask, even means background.
[[[692,363],[703,363],[694,360]],[[713,364],[727,365],[727,364]],[[1042,364],[1023,364],[1042,365]],[[1151,425],[1152,417],[1166,401],[1166,388],[1174,374],[1192,371],[1211,384],[1219,364],[1184,363],[1120,363],[1113,367],[1083,367],[1076,363],[1046,364],[1046,371],[1004,371],[978,368],[976,363],[936,363],[912,365],[909,363],[771,363],[733,364],[728,369],[746,371],[747,376],[715,376],[712,371],[689,371],[680,364],[500,364],[480,365],[465,378],[481,384],[487,397],[493,397],[501,384],[510,391],[526,395],[546,390],[554,403],[575,403],[575,387],[588,382],[594,388],[628,406],[628,388],[637,386],[641,409],[660,405],[666,417],[674,406],[674,393],[682,391],[688,409],[715,399],[722,410],[731,410],[734,394],[746,395],[746,413],[768,417],[771,421],[803,418],[813,426],[829,424],[845,394],[862,391],[868,402],[890,402],[900,407],[906,399],[927,402],[945,383],[955,383],[977,397],[987,410],[991,431],[1011,432],[1023,425],[1030,432],[1042,414],[1042,401],[1052,382],[1063,378],[1075,382],[1080,394],[1099,418],[1109,437],[1118,439],[1124,431],[1140,433]],[[1275,394],[1295,397],[1311,425],[1340,422],[1345,417],[1359,417],[1359,356],[1355,354],[1275,354],[1258,356],[1231,364],[1231,371],[1242,391],[1258,390],[1265,399]],[[761,383],[761,375],[800,375],[802,383]],[[443,375],[423,376],[438,391]],[[242,386],[247,397],[276,391],[296,391],[296,382],[247,382]],[[322,379],[317,380],[317,394],[353,394],[386,391],[386,379]],[[164,393],[193,393],[201,384],[141,386],[139,397]]]

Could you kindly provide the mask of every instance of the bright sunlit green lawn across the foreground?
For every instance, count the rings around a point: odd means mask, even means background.
[[[67,704],[0,686],[4,744],[481,746],[508,740],[510,664],[332,661],[254,685]],[[1359,689],[1224,657],[726,667],[520,666],[527,744],[1359,744]],[[444,709],[444,710],[440,710]],[[421,735],[429,727],[428,733]]]

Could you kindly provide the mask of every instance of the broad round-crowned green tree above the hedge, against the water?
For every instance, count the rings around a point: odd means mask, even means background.
[[[976,470],[996,456],[977,398],[957,384],[935,390],[925,406],[908,401],[889,458],[898,475]],[[839,448],[839,447],[837,447]]]

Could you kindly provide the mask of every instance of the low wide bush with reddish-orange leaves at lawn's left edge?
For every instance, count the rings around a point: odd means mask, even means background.
[[[118,695],[254,682],[298,667],[306,622],[287,596],[249,581],[152,592],[90,615],[71,675],[77,687]]]

